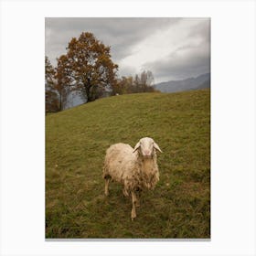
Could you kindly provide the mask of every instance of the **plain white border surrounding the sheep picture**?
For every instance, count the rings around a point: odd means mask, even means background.
[[[211,241],[45,241],[45,16],[211,17]],[[2,1],[1,255],[255,255],[255,28],[254,1]]]

